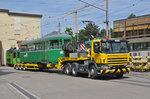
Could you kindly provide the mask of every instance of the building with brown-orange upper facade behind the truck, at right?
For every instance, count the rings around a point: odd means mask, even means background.
[[[150,52],[150,14],[114,21],[114,38],[123,35],[129,40],[131,56],[145,58]]]

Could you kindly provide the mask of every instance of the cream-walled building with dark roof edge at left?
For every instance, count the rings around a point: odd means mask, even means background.
[[[40,14],[10,12],[0,9],[0,63],[6,65],[6,51],[22,41],[41,37]]]

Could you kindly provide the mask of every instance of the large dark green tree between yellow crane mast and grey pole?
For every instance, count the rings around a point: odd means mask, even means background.
[[[96,37],[96,34],[99,34],[99,27],[92,22],[89,22],[84,29],[79,31],[79,40],[80,41],[87,41],[92,39],[92,36]]]

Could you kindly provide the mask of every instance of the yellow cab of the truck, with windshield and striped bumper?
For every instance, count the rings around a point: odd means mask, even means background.
[[[116,74],[121,78],[124,73],[130,71],[129,58],[127,40],[97,39],[92,41],[91,64],[95,65],[98,74]],[[89,64],[89,68],[90,66]]]

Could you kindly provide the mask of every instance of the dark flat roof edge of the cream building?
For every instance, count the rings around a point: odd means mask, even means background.
[[[29,13],[10,12],[8,9],[0,9],[0,12],[6,12],[9,15],[17,15],[17,16],[42,17],[42,14],[29,14]]]

